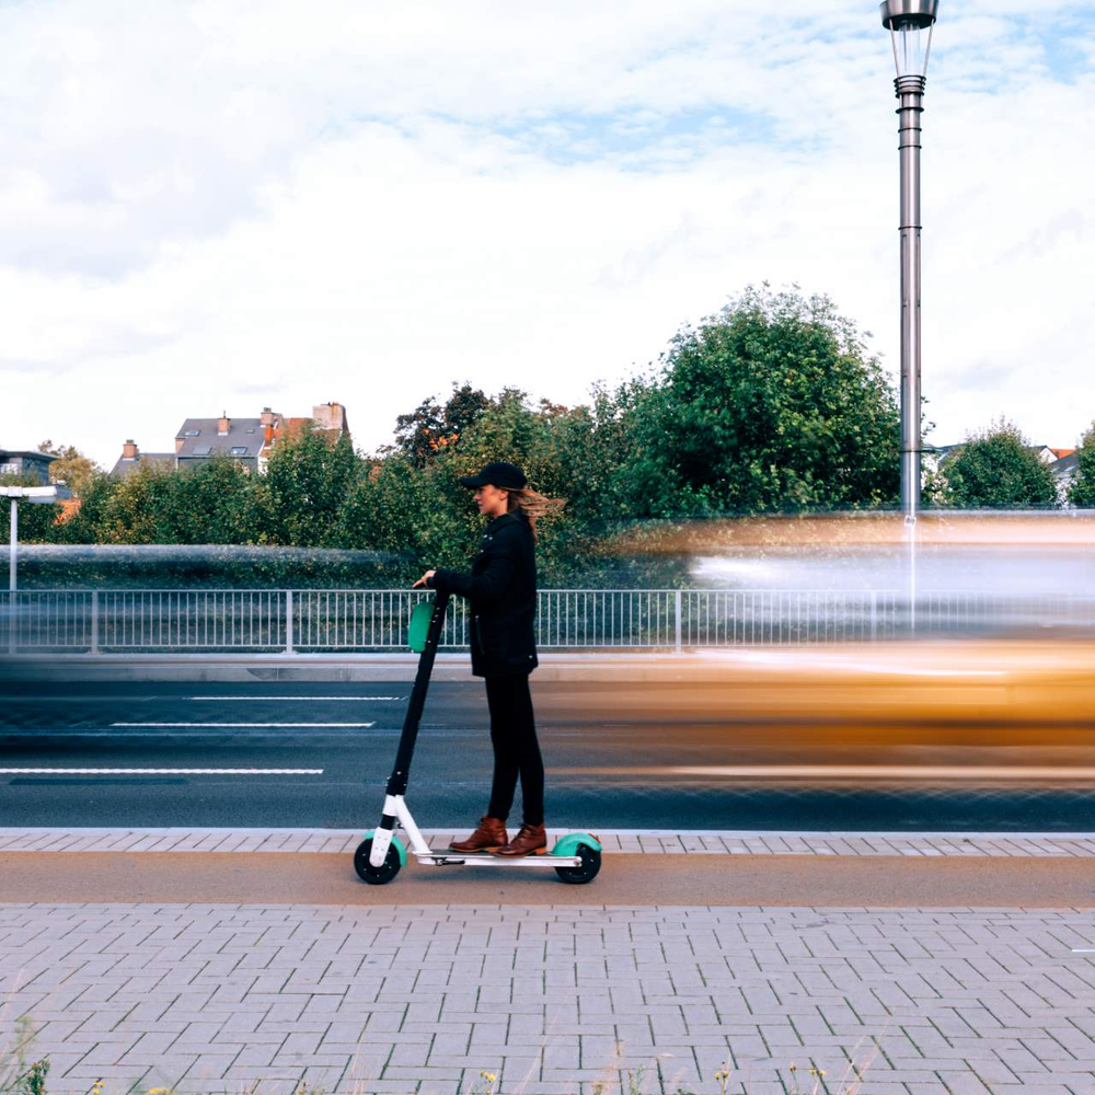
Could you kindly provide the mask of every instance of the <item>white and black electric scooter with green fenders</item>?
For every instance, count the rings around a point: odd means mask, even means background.
[[[437,593],[434,601],[420,601],[411,613],[410,645],[419,655],[418,671],[403,719],[403,733],[395,756],[395,766],[388,780],[384,812],[380,828],[371,829],[354,853],[354,869],[362,881],[372,886],[390,883],[406,866],[407,850],[395,834],[399,825],[411,842],[411,853],[419,863],[437,867],[459,867],[465,864],[491,867],[554,867],[565,883],[592,881],[601,868],[601,842],[588,832],[567,833],[555,846],[532,855],[498,856],[491,852],[435,852],[415,825],[404,796],[411,772],[418,724],[426,704],[426,690],[434,671],[434,658],[441,638],[448,593]]]

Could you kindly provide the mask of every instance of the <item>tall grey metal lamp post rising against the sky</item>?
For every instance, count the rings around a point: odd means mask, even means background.
[[[924,111],[927,55],[940,0],[884,0],[900,102],[901,153],[901,511],[906,522],[920,508],[920,115]]]

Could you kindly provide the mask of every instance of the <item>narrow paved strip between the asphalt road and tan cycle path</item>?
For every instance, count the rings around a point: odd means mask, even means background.
[[[549,829],[554,841],[570,829]],[[364,829],[2,829],[0,852],[353,852]],[[434,848],[458,835],[424,830]],[[460,835],[466,835],[462,831]],[[600,831],[606,852],[1091,856],[1092,833]]]

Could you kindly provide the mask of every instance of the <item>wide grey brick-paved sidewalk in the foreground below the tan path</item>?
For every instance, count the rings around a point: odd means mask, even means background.
[[[53,1095],[1095,1091],[1088,912],[5,904],[0,978]]]

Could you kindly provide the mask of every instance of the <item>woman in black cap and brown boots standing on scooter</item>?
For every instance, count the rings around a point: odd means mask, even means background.
[[[495,461],[460,480],[475,491],[479,511],[489,519],[470,574],[427,570],[415,586],[459,593],[471,602],[472,672],[486,681],[494,747],[491,802],[468,840],[454,852],[529,855],[548,846],[544,831],[544,765],[537,740],[529,673],[537,667],[535,522],[562,505],[528,488],[516,464]],[[523,825],[509,840],[506,819],[521,781]]]

